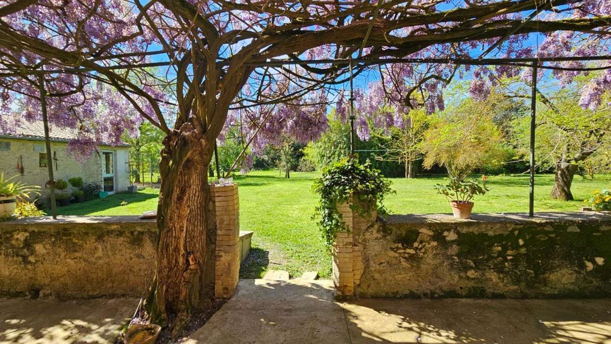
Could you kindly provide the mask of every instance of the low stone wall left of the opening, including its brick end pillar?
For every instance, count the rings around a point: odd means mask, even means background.
[[[240,233],[238,187],[211,187],[215,296],[231,297],[252,232]],[[155,269],[155,220],[60,216],[0,222],[0,297],[142,296]]]

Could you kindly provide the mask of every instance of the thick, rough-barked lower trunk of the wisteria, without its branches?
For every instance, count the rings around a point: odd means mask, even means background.
[[[214,300],[216,217],[208,186],[213,146],[186,123],[166,136],[161,151],[155,279],[145,309],[153,323],[174,327],[173,337]]]

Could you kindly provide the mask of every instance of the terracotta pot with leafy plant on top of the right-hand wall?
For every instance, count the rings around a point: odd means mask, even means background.
[[[446,185],[436,184],[435,189],[444,195],[452,206],[452,213],[457,219],[469,219],[474,203],[471,201],[475,195],[484,195],[489,191],[483,182],[475,179],[464,181],[452,178]]]

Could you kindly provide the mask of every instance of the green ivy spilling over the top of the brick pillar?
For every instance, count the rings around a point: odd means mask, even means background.
[[[337,210],[338,204],[348,203],[353,195],[354,202],[350,208],[360,216],[367,217],[376,208],[379,213],[385,214],[382,201],[384,196],[392,192],[390,181],[382,178],[379,170],[372,168],[369,162],[360,164],[356,159],[343,159],[324,170],[323,176],[316,179],[312,189],[320,194],[320,202],[313,218],[320,219],[318,226],[327,245],[333,244],[337,232],[348,231]]]

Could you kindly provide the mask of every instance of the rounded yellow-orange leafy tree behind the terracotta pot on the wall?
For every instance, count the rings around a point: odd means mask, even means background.
[[[503,108],[501,99],[499,94],[485,100],[466,99],[458,107],[439,113],[424,134],[423,165],[444,166],[451,178],[464,181],[486,163],[502,163],[503,135],[493,121]]]

